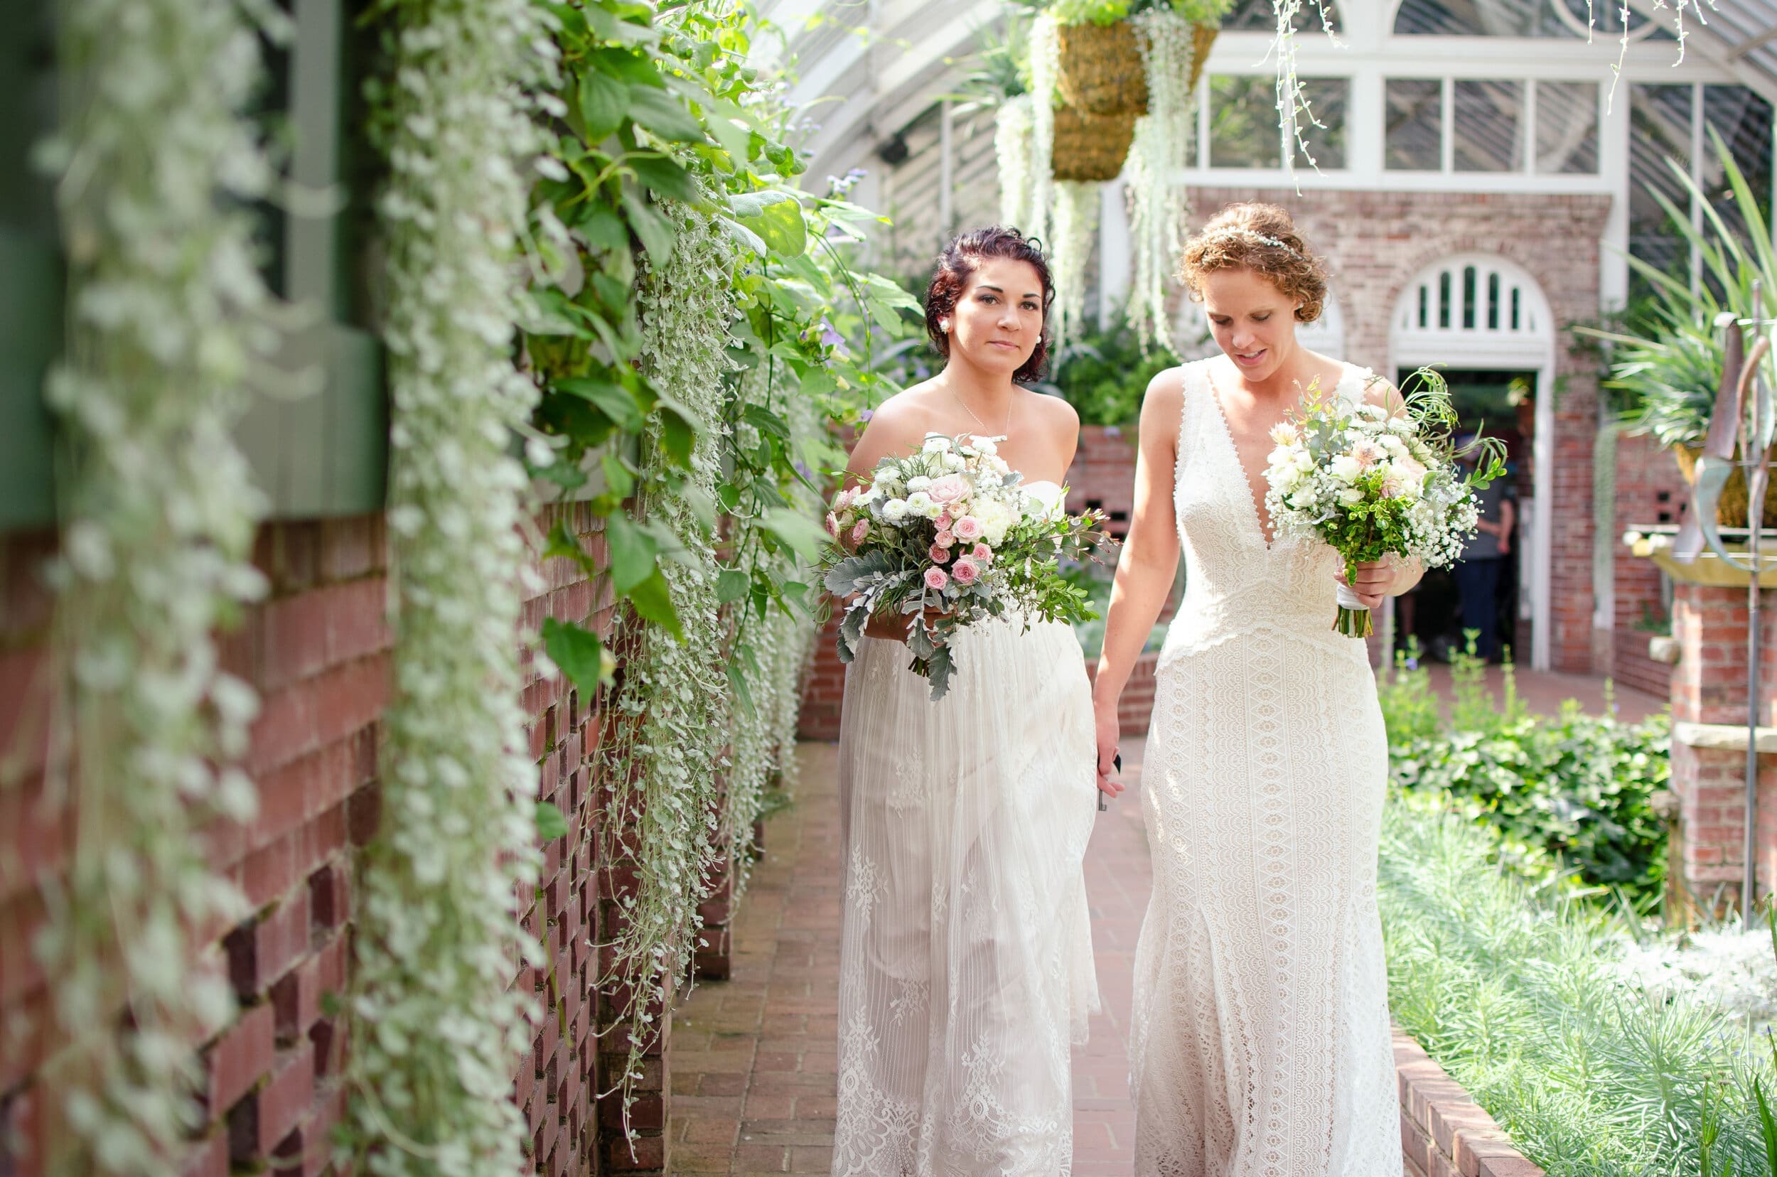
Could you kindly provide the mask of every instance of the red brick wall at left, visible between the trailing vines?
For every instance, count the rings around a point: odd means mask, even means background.
[[[569,526],[597,549],[592,517],[567,508]],[[549,526],[553,519],[546,519]],[[50,603],[37,571],[52,551],[46,537],[0,540],[0,747],[39,749],[43,645]],[[224,1175],[231,1163],[274,1163],[279,1172],[327,1170],[329,1129],[339,1122],[345,1092],[339,1069],[347,1042],[341,1019],[323,1012],[323,996],[345,990],[357,848],[377,829],[377,747],[389,690],[386,626],[387,540],[380,516],[279,523],[263,528],[254,562],[268,576],[270,597],[224,638],[231,670],[261,692],[247,766],[259,782],[259,814],[247,827],[213,832],[213,861],[245,891],[254,916],[220,939],[240,999],[240,1017],[204,1044],[208,1124],[188,1172]],[[546,569],[546,587],[526,601],[526,622],[544,615],[610,619],[594,585],[569,562]],[[538,898],[526,928],[544,941],[549,969],[526,971],[547,1013],[530,1054],[519,1061],[514,1095],[535,1141],[537,1170],[565,1175],[665,1168],[663,1051],[649,1065],[643,1099],[631,1117],[643,1129],[638,1161],[599,1136],[588,1097],[610,1086],[610,1056],[624,1044],[592,1038],[597,980],[592,944],[601,903],[585,834],[597,820],[588,749],[597,711],[563,681],[530,679],[524,702],[540,797],[569,818],[569,834],[544,846]],[[27,1152],[7,1156],[0,1172],[32,1173],[37,1124],[32,1076],[53,1035],[46,978],[30,964],[28,942],[43,919],[32,878],[53,871],[60,829],[36,809],[41,754],[23,757],[16,788],[0,789],[0,846],[23,868],[0,871],[0,1019],[32,1026],[27,1049],[0,1051],[0,1124],[23,1129]],[[610,1010],[606,1012],[610,1021]],[[565,1033],[563,1033],[565,1026]],[[608,1117],[610,1118],[610,1117]],[[599,1157],[602,1147],[604,1156]],[[602,1165],[601,1165],[602,1159]],[[288,1168],[284,1168],[288,1166]]]

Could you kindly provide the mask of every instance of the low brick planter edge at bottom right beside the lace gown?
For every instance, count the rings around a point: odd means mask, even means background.
[[[1493,1117],[1395,1028],[1406,1177],[1541,1177]]]

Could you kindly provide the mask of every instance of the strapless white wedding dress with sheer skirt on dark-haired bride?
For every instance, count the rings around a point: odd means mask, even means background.
[[[846,672],[835,1175],[1072,1170],[1068,1053],[1098,1005],[1086,665],[1056,622],[954,651],[938,702],[901,642]]]

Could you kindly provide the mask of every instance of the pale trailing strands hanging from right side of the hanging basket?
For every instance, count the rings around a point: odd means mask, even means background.
[[[1132,18],[1143,69],[1148,73],[1148,114],[1136,119],[1123,178],[1130,206],[1130,290],[1125,313],[1143,348],[1178,350],[1166,292],[1183,251],[1189,208],[1178,174],[1189,164],[1196,96],[1191,91],[1192,27],[1185,18],[1148,11]]]

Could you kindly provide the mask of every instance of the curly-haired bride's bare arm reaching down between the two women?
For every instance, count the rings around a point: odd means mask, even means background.
[[[1136,658],[1148,644],[1160,606],[1178,574],[1178,524],[1173,517],[1173,471],[1178,460],[1178,414],[1183,407],[1183,370],[1169,368],[1148,382],[1141,404],[1141,444],[1136,453],[1136,510],[1128,539],[1116,562],[1111,608],[1105,612],[1104,653],[1093,683],[1093,713],[1098,724],[1098,788],[1116,797],[1123,786],[1111,781],[1111,763],[1120,736],[1118,697],[1128,683]]]

